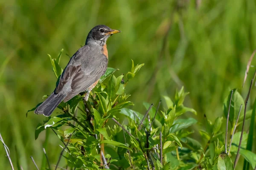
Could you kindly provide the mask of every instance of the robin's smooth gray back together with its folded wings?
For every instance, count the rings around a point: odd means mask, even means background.
[[[101,45],[84,45],[70,59],[64,69],[55,94],[67,94],[67,102],[77,94],[86,91],[108,67],[108,58],[102,54]]]

